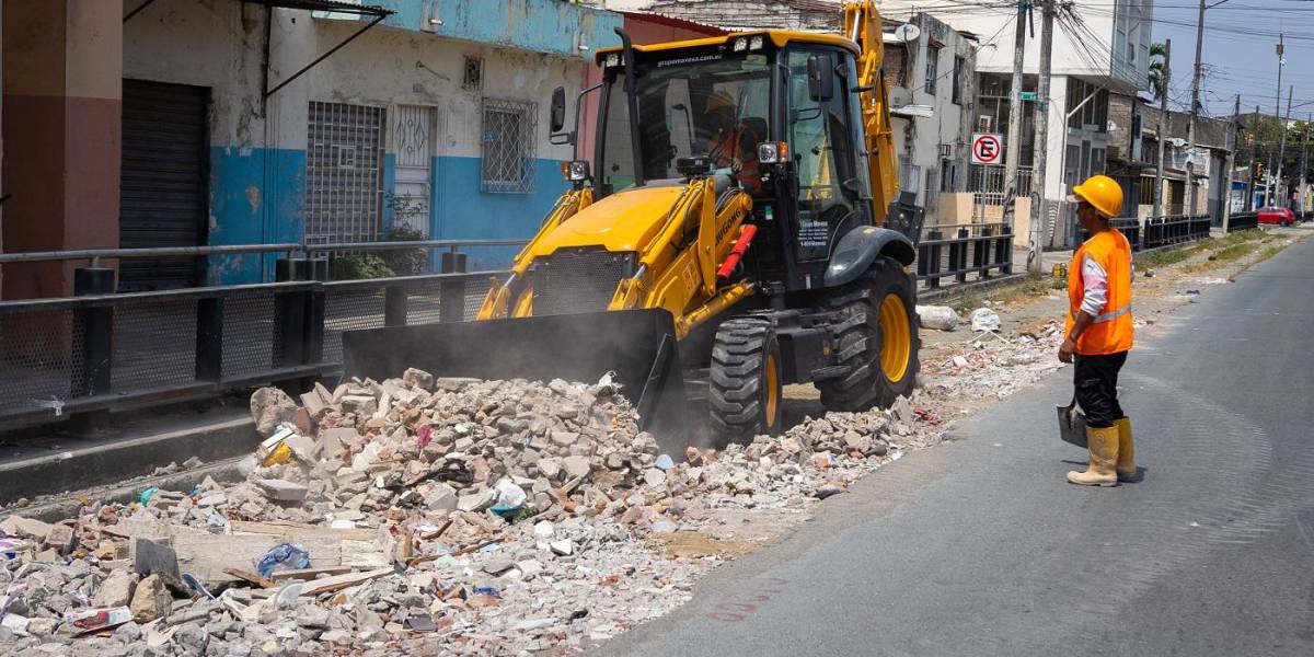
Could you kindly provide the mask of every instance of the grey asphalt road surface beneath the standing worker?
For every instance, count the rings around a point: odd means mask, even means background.
[[[598,653],[1314,654],[1311,288],[1307,240],[1142,332],[1143,481],[1064,481],[1063,369]]]

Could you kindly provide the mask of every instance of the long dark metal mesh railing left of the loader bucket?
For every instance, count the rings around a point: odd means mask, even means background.
[[[340,371],[342,332],[472,319],[493,277],[355,281],[0,302],[0,428],[309,381]]]

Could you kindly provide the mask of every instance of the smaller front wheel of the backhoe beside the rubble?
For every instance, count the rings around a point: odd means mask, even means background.
[[[708,371],[712,428],[727,440],[781,428],[781,347],[761,317],[736,317],[716,328]]]

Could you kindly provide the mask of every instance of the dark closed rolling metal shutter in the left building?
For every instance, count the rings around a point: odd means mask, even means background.
[[[206,87],[124,80],[122,248],[202,246],[208,214]],[[121,292],[200,284],[204,258],[118,264]]]

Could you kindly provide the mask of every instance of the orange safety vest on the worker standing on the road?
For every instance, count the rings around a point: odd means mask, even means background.
[[[1131,244],[1117,229],[1097,233],[1072,254],[1072,264],[1068,267],[1068,315],[1063,334],[1072,332],[1076,315],[1081,311],[1081,300],[1085,297],[1081,264],[1087,258],[1095,260],[1109,276],[1109,298],[1095,317],[1095,323],[1077,338],[1076,352],[1097,356],[1127,351],[1135,334],[1131,326]]]

